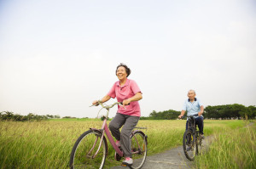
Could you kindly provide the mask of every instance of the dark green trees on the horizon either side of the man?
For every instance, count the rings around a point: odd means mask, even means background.
[[[156,112],[153,110],[149,116],[142,116],[141,120],[174,120],[180,115],[180,111],[165,110]],[[205,119],[255,119],[256,107],[242,104],[208,105],[203,113]]]

